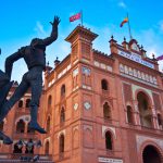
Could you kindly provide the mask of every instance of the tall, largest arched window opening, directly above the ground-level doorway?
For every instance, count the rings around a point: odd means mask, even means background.
[[[139,115],[140,115],[140,123],[145,127],[152,127],[152,113],[149,105],[149,98],[148,96],[140,91],[137,95],[138,100],[138,109],[139,109]]]

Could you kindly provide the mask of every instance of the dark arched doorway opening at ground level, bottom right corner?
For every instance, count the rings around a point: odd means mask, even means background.
[[[161,154],[158,152],[156,148],[151,145],[143,149],[142,160],[143,163],[162,163]]]

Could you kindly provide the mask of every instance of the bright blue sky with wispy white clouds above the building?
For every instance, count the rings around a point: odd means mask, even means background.
[[[60,60],[71,52],[71,45],[64,39],[80,23],[68,22],[68,17],[80,10],[84,13],[84,26],[97,33],[99,37],[93,48],[110,53],[111,35],[121,43],[128,37],[127,25],[120,24],[129,13],[133,37],[143,45],[148,57],[163,53],[163,1],[158,0],[1,0],[0,2],[0,68],[4,70],[4,60],[22,46],[29,45],[35,37],[49,36],[49,21],[54,15],[61,17],[59,39],[47,48],[47,61],[53,66],[57,57]],[[160,70],[162,71],[162,62]],[[12,79],[21,80],[27,71],[24,61],[14,64]]]

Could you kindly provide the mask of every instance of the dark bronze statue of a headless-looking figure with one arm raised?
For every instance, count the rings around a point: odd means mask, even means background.
[[[8,82],[8,89],[11,87],[11,72],[13,63],[20,59],[24,59],[28,72],[24,74],[20,86],[16,88],[14,95],[8,100],[4,100],[3,95],[2,102],[0,103],[0,123],[7,116],[11,108],[24,96],[28,88],[32,89],[32,101],[30,101],[30,123],[29,128],[37,130],[40,134],[46,134],[46,130],[39,126],[37,123],[37,112],[39,106],[39,99],[41,96],[42,90],[42,72],[46,68],[46,47],[51,45],[58,38],[58,25],[60,24],[60,18],[54,16],[53,23],[50,22],[52,25],[52,32],[50,37],[45,39],[34,38],[29,46],[22,47],[18,49],[17,52],[11,54],[5,60],[5,74],[0,72],[0,82],[2,85],[7,85]],[[7,82],[5,82],[7,80]],[[0,86],[0,91],[1,87]],[[8,90],[5,90],[7,92]],[[0,138],[3,139],[3,142],[9,145],[12,143],[12,140],[7,137],[3,133],[0,133]]]

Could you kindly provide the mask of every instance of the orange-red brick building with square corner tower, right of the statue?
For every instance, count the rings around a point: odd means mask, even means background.
[[[39,122],[48,134],[36,135],[43,145],[38,152],[61,163],[146,163],[154,151],[158,160],[151,163],[163,162],[156,61],[135,39],[118,45],[112,37],[111,54],[104,54],[92,49],[97,36],[77,26],[65,39],[71,54],[46,71]],[[15,113],[9,116],[14,124]]]

